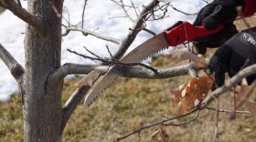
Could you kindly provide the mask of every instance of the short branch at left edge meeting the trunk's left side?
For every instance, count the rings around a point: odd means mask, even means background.
[[[0,44],[0,58],[4,61],[5,65],[9,68],[12,76],[16,78],[19,83],[24,74],[23,66],[19,65],[16,59]]]

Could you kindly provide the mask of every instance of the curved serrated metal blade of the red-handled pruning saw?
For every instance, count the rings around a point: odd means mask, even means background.
[[[151,39],[145,41],[140,46],[137,46],[129,54],[123,56],[120,60],[122,63],[133,63],[140,62],[145,58],[160,52],[161,50],[167,48],[168,42],[165,37],[165,33],[155,35]],[[91,90],[85,97],[84,105],[90,106],[92,101],[100,95],[100,93],[120,76],[120,65],[114,65],[110,70],[104,75],[99,77],[97,81],[91,86]]]

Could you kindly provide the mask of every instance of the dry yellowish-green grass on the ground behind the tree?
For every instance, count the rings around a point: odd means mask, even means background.
[[[249,21],[252,25],[256,25],[253,18]],[[236,23],[240,28],[246,27],[242,22]],[[209,53],[213,52],[214,50],[211,50]],[[176,65],[164,56],[157,56],[152,66]],[[138,127],[152,124],[164,116],[174,116],[176,108],[170,105],[169,90],[187,83],[188,80],[188,76],[161,80],[120,78],[89,108],[84,109],[83,102],[80,102],[80,106],[71,116],[64,131],[63,141],[113,141],[116,137],[121,137]],[[76,81],[78,79],[64,83],[63,103],[75,90],[73,85]],[[255,93],[253,95],[255,96]],[[227,93],[220,97],[219,101],[220,108],[230,110],[233,107],[233,93]],[[211,107],[215,107],[214,103]],[[186,119],[178,119],[174,123],[184,122]],[[214,136],[215,119],[216,112],[204,110],[197,120],[181,127],[166,127],[166,131],[170,141],[173,142],[210,141]],[[158,128],[153,127],[143,131],[141,141],[148,140]],[[250,115],[237,115],[234,121],[229,121],[225,113],[219,116],[219,142],[255,142],[255,130],[255,117]],[[138,136],[134,135],[123,141],[131,142],[137,139]],[[0,104],[0,142],[2,141],[23,141],[22,102],[18,94],[14,95],[8,103]]]

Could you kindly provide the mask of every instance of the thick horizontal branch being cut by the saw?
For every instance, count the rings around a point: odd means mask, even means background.
[[[89,74],[92,70],[100,70],[102,74],[105,74],[110,66],[100,65],[80,65],[67,63],[48,78],[48,83],[55,84],[59,80],[64,79],[65,76],[73,74]],[[187,64],[183,66],[175,66],[168,68],[155,68],[157,73],[150,69],[145,69],[142,66],[123,66],[120,69],[120,76],[123,77],[134,77],[134,78],[149,78],[149,79],[162,79],[176,76],[186,76],[188,69],[195,68],[199,70],[194,64]]]

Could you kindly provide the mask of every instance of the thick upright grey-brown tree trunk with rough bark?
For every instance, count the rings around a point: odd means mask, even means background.
[[[62,82],[47,84],[50,76],[60,66],[62,0],[28,0],[27,10],[45,22],[35,29],[26,27],[25,37],[25,86],[24,141],[61,141]],[[54,10],[56,8],[56,10]]]

